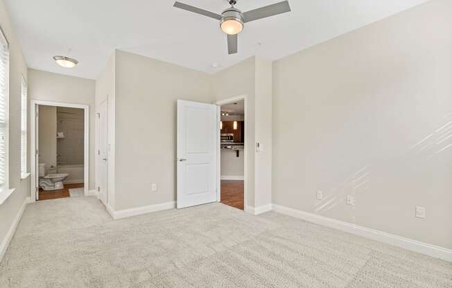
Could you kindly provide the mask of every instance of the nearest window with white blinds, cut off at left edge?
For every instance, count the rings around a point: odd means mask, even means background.
[[[8,190],[8,82],[10,53],[8,41],[0,30],[0,203]]]

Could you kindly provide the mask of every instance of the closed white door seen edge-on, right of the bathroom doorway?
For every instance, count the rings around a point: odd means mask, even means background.
[[[105,100],[99,105],[99,150],[98,165],[99,165],[99,179],[98,192],[99,199],[107,205],[108,201],[108,102]]]

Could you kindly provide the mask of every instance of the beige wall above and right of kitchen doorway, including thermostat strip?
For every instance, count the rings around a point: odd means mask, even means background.
[[[245,95],[247,147],[246,206],[271,204],[272,161],[272,64],[250,57],[212,75],[215,100]],[[256,143],[263,151],[256,152]]]

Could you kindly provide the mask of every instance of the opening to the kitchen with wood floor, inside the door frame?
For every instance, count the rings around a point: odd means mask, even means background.
[[[245,206],[245,100],[220,105],[220,202]]]

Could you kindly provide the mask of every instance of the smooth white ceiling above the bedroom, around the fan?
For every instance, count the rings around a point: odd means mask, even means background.
[[[427,0],[289,0],[292,12],[245,25],[236,55],[227,54],[218,21],[173,8],[173,0],[4,1],[28,66],[95,79],[114,48],[214,73],[252,55],[277,60]],[[217,13],[228,7],[226,0],[180,1]],[[236,8],[279,1],[238,0]],[[60,68],[54,55],[80,64]]]

